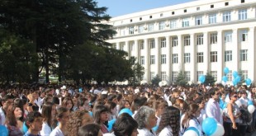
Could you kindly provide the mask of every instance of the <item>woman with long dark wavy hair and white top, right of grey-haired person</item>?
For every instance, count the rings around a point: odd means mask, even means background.
[[[180,110],[173,106],[165,108],[157,131],[158,136],[178,136]]]

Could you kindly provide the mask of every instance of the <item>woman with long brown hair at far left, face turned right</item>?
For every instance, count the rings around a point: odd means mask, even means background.
[[[9,131],[9,136],[22,136],[22,121],[23,117],[21,107],[15,104],[12,104],[8,107],[7,110],[7,129]]]

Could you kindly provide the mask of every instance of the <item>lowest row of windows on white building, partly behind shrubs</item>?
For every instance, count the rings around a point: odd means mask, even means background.
[[[242,70],[241,73],[244,76],[244,79],[246,79],[248,77],[248,70]],[[184,74],[185,74],[185,77],[186,77],[186,81],[187,82],[191,81],[190,71],[185,71]],[[197,82],[198,82],[198,78],[201,75],[203,75],[203,71],[197,71]],[[151,72],[150,76],[151,76],[151,80],[152,80],[155,76],[155,73]],[[217,77],[218,77],[217,71],[211,71],[211,76],[214,77],[215,80],[217,81]],[[232,81],[232,71],[230,71],[230,73],[228,73],[226,76],[228,77],[228,81],[231,82]],[[168,81],[168,76],[167,76],[166,72],[161,72],[160,77],[161,77],[162,81]],[[177,77],[178,77],[178,72],[172,72],[172,79],[171,80],[173,82],[176,81]]]

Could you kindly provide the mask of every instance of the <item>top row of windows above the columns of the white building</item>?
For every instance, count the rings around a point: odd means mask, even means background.
[[[222,12],[222,21],[223,22],[229,22],[232,21],[232,11],[225,11]],[[217,23],[217,14],[218,13],[211,13],[208,15],[208,24],[216,24]],[[201,26],[203,25],[203,15],[199,15],[199,16],[195,16],[195,26]],[[243,20],[247,20],[247,9],[239,9],[238,11],[238,20],[239,21],[243,21]],[[182,27],[188,27],[191,26],[191,17],[185,17],[182,19]],[[129,35],[133,35],[135,34],[135,31],[138,30],[138,33],[143,33],[145,31],[154,31],[154,30],[164,30],[165,28],[169,28],[169,29],[175,29],[178,28],[178,19],[173,19],[171,21],[168,21],[168,23],[166,23],[166,21],[159,21],[158,22],[158,28],[155,29],[154,28],[155,24],[154,22],[147,24],[147,26],[145,26],[144,24],[141,24],[137,27],[135,26],[129,26]],[[121,29],[120,31],[120,35],[126,35],[126,29]]]

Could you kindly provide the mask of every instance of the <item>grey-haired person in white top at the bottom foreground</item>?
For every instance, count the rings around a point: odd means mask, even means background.
[[[138,123],[139,136],[155,136],[152,128],[157,124],[155,110],[149,106],[141,106],[135,115]]]

